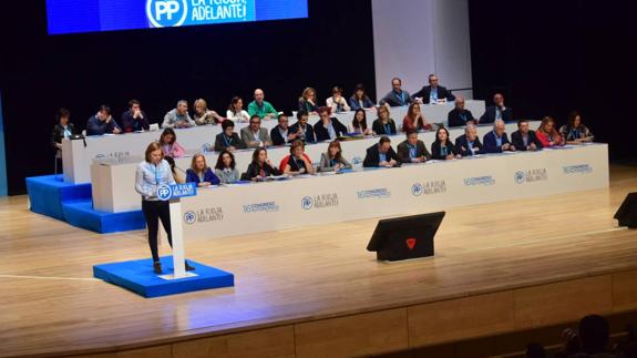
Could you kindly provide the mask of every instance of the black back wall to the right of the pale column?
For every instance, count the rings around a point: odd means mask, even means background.
[[[516,117],[583,113],[613,158],[637,156],[631,1],[469,0],[474,96],[506,94]]]

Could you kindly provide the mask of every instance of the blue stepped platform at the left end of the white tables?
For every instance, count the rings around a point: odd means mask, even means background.
[[[143,229],[142,211],[105,213],[93,209],[91,184],[64,183],[63,175],[27,178],[31,211],[100,234]]]

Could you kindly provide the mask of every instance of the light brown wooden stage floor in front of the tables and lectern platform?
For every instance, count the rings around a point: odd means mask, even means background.
[[[635,191],[637,167],[612,165],[609,190],[449,209],[435,257],[397,264],[364,249],[377,219],[188,242],[188,258],[234,273],[236,287],[153,299],[92,278],[94,264],[147,257],[145,232],[97,235],[29,212],[24,196],[1,198],[0,356],[125,350],[286,325],[289,356],[321,356],[311,339],[340,326],[312,321],[637,270],[637,232],[613,219]],[[408,344],[453,338],[438,334],[410,331]],[[387,350],[400,348],[392,339]]]

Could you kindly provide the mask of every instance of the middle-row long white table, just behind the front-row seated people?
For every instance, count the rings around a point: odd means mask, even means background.
[[[531,126],[535,127],[538,122],[531,122]],[[484,134],[492,130],[491,125],[479,125],[477,133],[482,139]],[[513,123],[506,124],[508,133],[516,130]],[[455,140],[464,133],[464,129],[451,129],[450,136]],[[428,149],[434,141],[434,132],[419,133],[420,140],[424,142]],[[404,141],[404,134],[397,134],[390,136],[392,146]],[[345,157],[352,162],[352,164],[361,166],[364,154],[368,147],[378,143],[379,137],[366,137],[362,140],[345,141],[341,142],[341,147]],[[309,155],[314,163],[319,163],[321,153],[327,151],[328,143],[308,144],[306,153]],[[239,172],[245,172],[251,161],[254,150],[244,150],[235,152],[235,161]],[[194,154],[194,153],[193,153]],[[276,146],[268,149],[268,156],[274,164],[278,165],[280,161],[289,154],[289,146]],[[217,161],[217,153],[205,153],[206,162],[209,166],[214,166]],[[93,192],[93,207],[109,213],[120,213],[141,208],[140,196],[135,193],[135,170],[137,164],[142,161],[142,156],[131,156],[125,158],[112,158],[95,161],[91,166],[91,183]],[[184,171],[191,166],[192,155],[178,157],[175,160],[177,167]]]

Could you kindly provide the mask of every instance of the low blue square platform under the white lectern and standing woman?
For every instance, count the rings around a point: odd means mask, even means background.
[[[164,275],[173,274],[173,257],[164,256],[160,259]],[[235,276],[230,273],[193,260],[188,260],[188,264],[195,268],[192,273],[197,276],[172,280],[164,279],[154,273],[152,258],[95,265],[93,266],[93,276],[146,298],[235,285]]]

